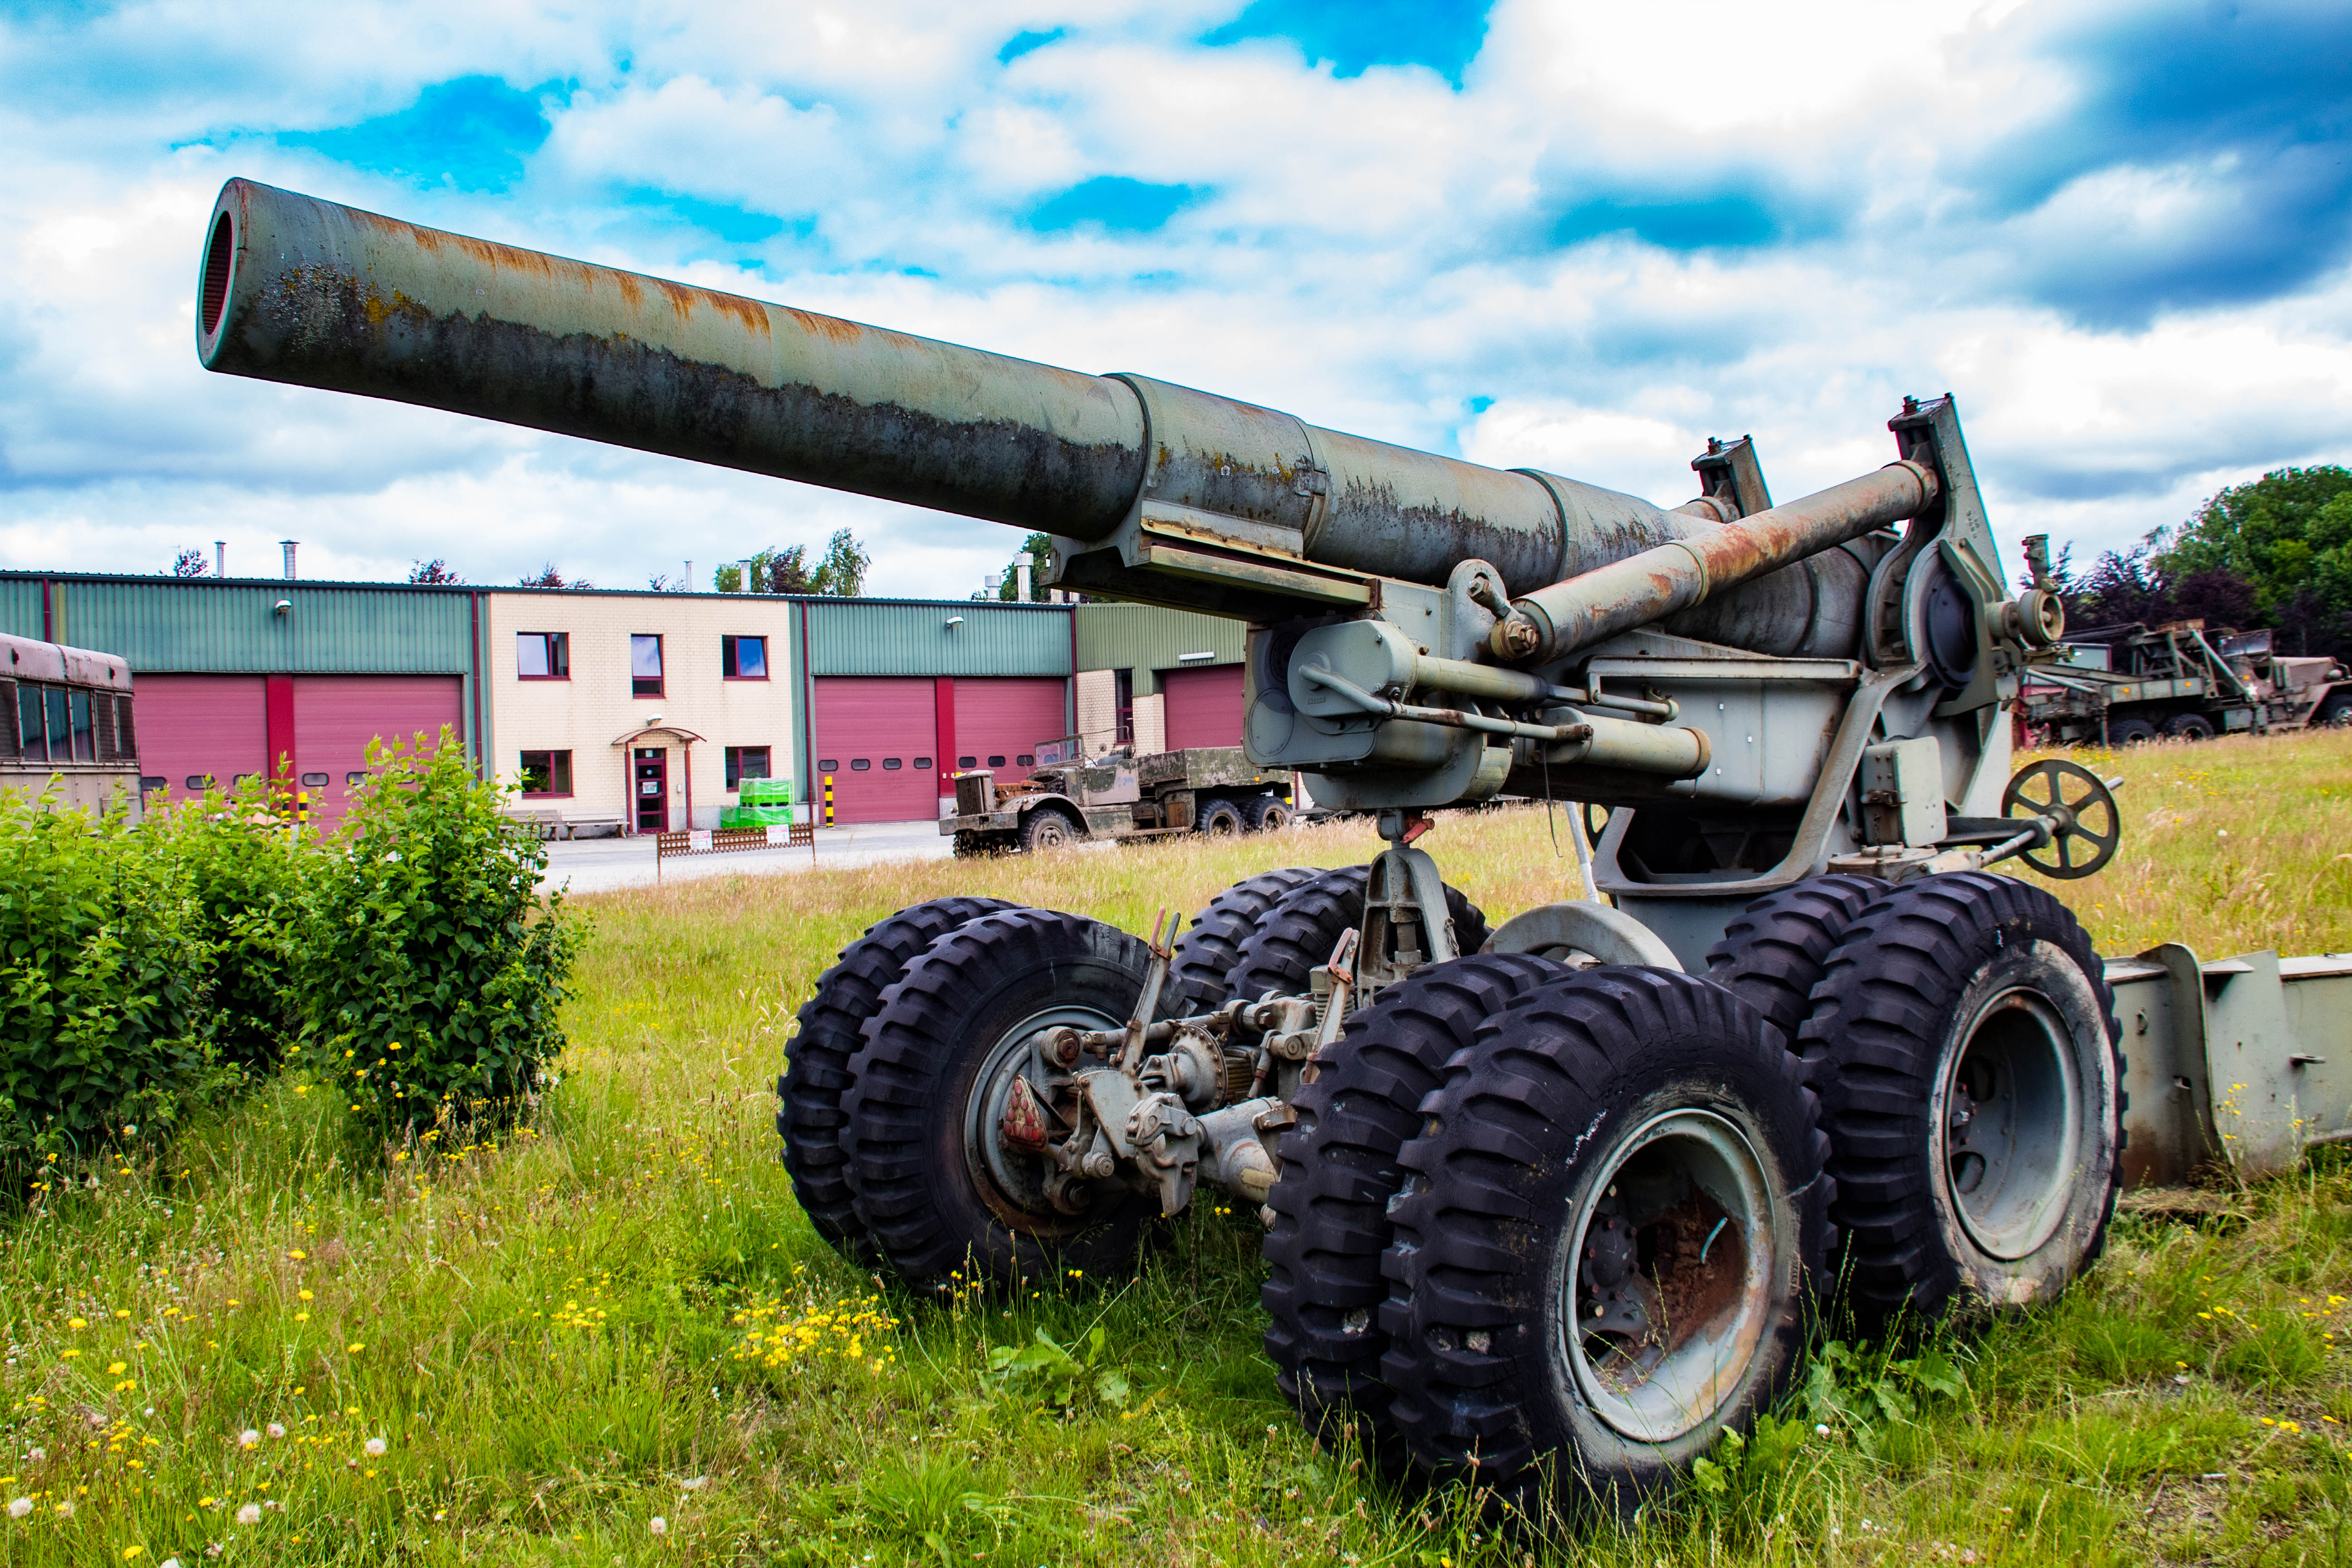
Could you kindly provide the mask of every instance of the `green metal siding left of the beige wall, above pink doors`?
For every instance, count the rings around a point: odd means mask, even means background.
[[[38,625],[40,583],[31,588]],[[120,654],[134,675],[466,675],[473,668],[463,592],[174,578],[54,578],[52,592],[54,642]],[[275,614],[280,599],[292,602],[285,616]]]

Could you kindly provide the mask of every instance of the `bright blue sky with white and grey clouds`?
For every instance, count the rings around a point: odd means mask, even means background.
[[[207,376],[245,174],[1661,503],[1959,395],[2077,562],[2352,461],[2352,7],[1597,0],[0,5],[0,564],[600,585],[1014,536]]]

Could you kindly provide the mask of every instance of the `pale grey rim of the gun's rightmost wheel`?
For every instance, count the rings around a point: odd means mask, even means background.
[[[2030,1258],[2065,1220],[2082,1161],[2074,1034],[2032,990],[2006,990],[1959,1032],[1936,1098],[1943,1201],[1990,1258]]]

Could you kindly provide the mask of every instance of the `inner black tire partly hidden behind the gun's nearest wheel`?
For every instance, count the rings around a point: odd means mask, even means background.
[[[1397,1150],[1421,1131],[1421,1100],[1477,1027],[1566,971],[1526,952],[1484,952],[1430,964],[1383,990],[1308,1063],[1282,1135],[1282,1180],[1268,1208],[1265,1354],[1275,1382],[1310,1432],[1355,1434],[1390,1467],[1402,1458],[1388,1425],[1378,1324],[1388,1281],[1381,1253],[1388,1201],[1404,1185]]]

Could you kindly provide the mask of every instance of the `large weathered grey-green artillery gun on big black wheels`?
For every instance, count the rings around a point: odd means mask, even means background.
[[[1063,588],[1251,625],[1249,759],[1376,813],[1369,867],[1148,938],[931,900],[802,1009],[795,1190],[915,1286],[1108,1272],[1209,1187],[1268,1220],[1310,1425],[1623,1505],[1790,1385],[1832,1267],[1865,1321],[2037,1302],[2126,1173],[2345,1126],[2352,1041],[2312,1039],[2352,964],[2103,964],[1985,875],[2089,875],[2119,823],[2009,778],[2063,616],[2004,592],[1950,397],[1877,473],[1776,505],[1710,442],[1661,508],[247,181],[195,329],[216,371],[1042,529]],[[1609,809],[1611,903],[1486,929],[1416,839],[1503,790]]]

